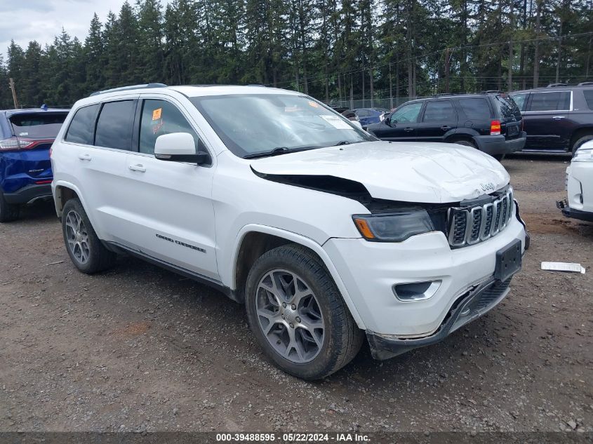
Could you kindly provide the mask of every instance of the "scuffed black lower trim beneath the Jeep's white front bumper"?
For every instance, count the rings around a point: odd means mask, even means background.
[[[393,358],[419,347],[441,342],[458,328],[482,316],[502,301],[509,292],[511,278],[501,282],[489,278],[463,292],[445,316],[439,328],[432,335],[418,338],[402,338],[380,335],[366,331],[373,358],[380,361]]]

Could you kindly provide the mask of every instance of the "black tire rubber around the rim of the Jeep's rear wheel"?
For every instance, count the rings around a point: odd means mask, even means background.
[[[81,260],[81,258],[76,255],[75,251],[72,250],[68,240],[67,223],[68,217],[72,214],[72,212],[79,215],[81,222],[84,224],[86,245],[88,245],[86,260]],[[81,227],[83,226],[81,225]],[[114,265],[116,254],[107,250],[105,245],[101,243],[97,237],[97,234],[95,233],[95,230],[93,229],[93,226],[91,225],[91,221],[88,220],[86,211],[82,207],[79,199],[70,199],[66,202],[62,210],[62,234],[64,236],[64,243],[68,255],[72,260],[72,263],[74,263],[74,266],[79,269],[79,271],[82,271],[86,274],[93,274],[108,269]]]

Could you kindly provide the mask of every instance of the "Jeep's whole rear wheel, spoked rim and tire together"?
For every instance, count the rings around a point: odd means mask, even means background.
[[[115,253],[101,243],[79,199],[70,199],[62,210],[62,233],[70,259],[86,274],[112,267]]]

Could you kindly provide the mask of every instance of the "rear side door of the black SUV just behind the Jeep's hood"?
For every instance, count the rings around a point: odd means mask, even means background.
[[[458,116],[451,100],[429,100],[416,138],[425,142],[443,142],[446,136],[455,131],[457,124]]]

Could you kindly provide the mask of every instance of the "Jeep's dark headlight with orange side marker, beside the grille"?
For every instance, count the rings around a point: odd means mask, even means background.
[[[434,231],[426,210],[401,210],[397,213],[354,215],[354,224],[367,241],[401,242],[415,234]]]

